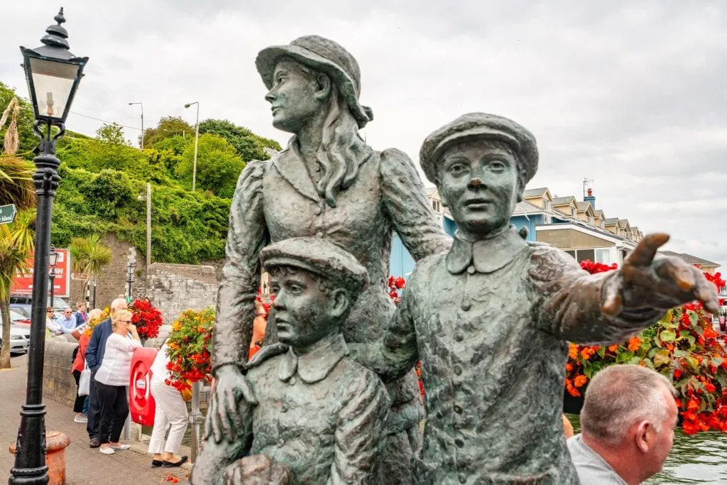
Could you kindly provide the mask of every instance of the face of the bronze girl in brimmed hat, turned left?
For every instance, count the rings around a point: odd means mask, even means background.
[[[265,95],[273,110],[273,127],[297,133],[321,109],[316,79],[299,63],[281,60],[273,73],[273,86]]]

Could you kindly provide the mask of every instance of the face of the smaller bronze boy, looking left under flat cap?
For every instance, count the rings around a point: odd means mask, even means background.
[[[310,273],[281,268],[270,275],[270,286],[276,294],[272,313],[278,340],[293,348],[305,348],[337,331],[330,299]]]

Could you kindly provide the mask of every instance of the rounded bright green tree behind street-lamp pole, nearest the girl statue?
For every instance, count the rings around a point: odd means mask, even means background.
[[[185,148],[182,161],[175,172],[185,180],[192,180],[194,145]],[[217,135],[201,135],[197,151],[197,185],[217,196],[230,199],[245,162],[224,138]]]

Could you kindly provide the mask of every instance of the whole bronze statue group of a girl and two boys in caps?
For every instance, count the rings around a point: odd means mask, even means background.
[[[509,220],[537,144],[493,114],[460,116],[419,153],[457,223],[452,240],[411,159],[358,134],[373,112],[348,51],[304,36],[256,65],[273,126],[293,136],[238,180],[191,482],[577,484],[561,421],[568,342],[622,342],[691,300],[717,310],[714,286],[656,256],[664,234],[597,275],[524,241]],[[417,260],[397,308],[393,232]],[[248,362],[262,270],[276,300]]]

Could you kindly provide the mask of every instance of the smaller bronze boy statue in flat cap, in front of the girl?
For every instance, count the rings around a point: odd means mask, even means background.
[[[260,260],[276,293],[279,342],[247,364],[257,405],[238,404],[242,422],[227,429],[236,438],[207,441],[191,483],[373,483],[389,398],[377,374],[348,357],[339,332],[369,283],[366,269],[309,237],[266,246]]]

